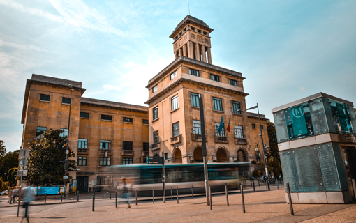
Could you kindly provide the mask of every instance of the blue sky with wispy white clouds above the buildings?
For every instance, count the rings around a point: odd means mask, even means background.
[[[214,31],[212,63],[242,72],[248,107],[320,91],[356,103],[356,1],[198,1]],[[188,1],[0,0],[0,139],[20,148],[26,79],[82,82],[84,97],[144,105],[174,60],[168,36]]]

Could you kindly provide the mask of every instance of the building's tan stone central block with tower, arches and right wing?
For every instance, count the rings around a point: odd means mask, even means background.
[[[212,64],[213,31],[188,15],[170,35],[175,61],[149,80],[150,154],[167,162],[202,162],[198,95],[203,97],[209,162],[262,162],[258,114],[246,109],[240,72]],[[223,117],[225,129],[218,132]],[[266,118],[262,134],[268,145]],[[230,132],[226,128],[230,120]],[[260,164],[258,164],[260,168]],[[253,167],[254,168],[254,167]]]

